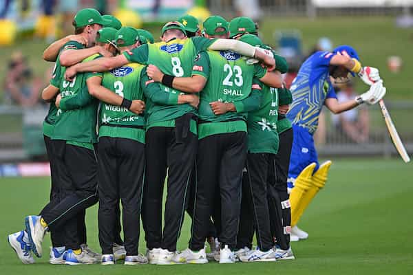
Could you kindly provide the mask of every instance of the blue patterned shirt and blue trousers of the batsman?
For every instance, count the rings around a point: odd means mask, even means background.
[[[291,85],[293,103],[287,118],[293,123],[293,148],[288,171],[288,188],[299,173],[312,162],[319,163],[313,134],[317,130],[318,118],[324,101],[337,98],[330,82],[329,66],[332,52],[315,52],[301,65],[297,77]]]

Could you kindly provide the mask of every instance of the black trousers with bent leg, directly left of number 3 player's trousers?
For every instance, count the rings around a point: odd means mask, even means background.
[[[54,140],[57,174],[61,183],[61,201],[42,212],[50,232],[64,230],[67,249],[76,250],[85,241],[85,209],[97,202],[96,158],[94,151]],[[79,237],[80,236],[80,237]]]

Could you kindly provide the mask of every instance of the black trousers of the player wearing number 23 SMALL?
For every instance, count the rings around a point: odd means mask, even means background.
[[[204,248],[217,191],[221,200],[220,242],[234,249],[240,221],[242,169],[246,157],[246,133],[222,133],[204,137],[198,144],[195,210],[189,248]]]

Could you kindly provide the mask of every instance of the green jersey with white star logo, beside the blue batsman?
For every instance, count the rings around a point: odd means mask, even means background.
[[[248,152],[278,152],[277,133],[278,92],[264,85],[260,109],[248,113]]]

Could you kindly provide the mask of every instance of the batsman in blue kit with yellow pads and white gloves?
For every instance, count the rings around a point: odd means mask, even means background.
[[[347,102],[338,102],[332,81],[346,83],[356,74],[370,85],[366,93]],[[287,118],[293,124],[293,148],[288,170],[291,204],[291,234],[306,239],[308,234],[297,228],[297,222],[317,192],[324,187],[331,161],[319,165],[313,134],[323,105],[332,113],[341,113],[359,104],[375,104],[385,95],[379,70],[362,67],[356,50],[341,45],[332,52],[315,52],[301,65],[290,87],[293,103]]]

